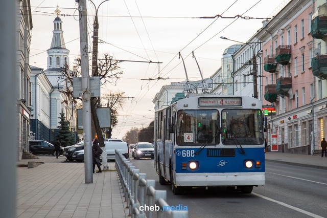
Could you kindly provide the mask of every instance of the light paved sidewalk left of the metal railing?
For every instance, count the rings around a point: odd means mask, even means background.
[[[37,157],[17,162],[44,162],[34,168],[17,167],[17,217],[128,216],[116,171],[94,173],[93,183],[85,184],[84,163],[66,162],[62,156]],[[114,162],[108,164],[115,170]]]

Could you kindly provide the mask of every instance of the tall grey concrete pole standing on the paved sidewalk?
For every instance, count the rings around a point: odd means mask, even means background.
[[[92,167],[92,136],[91,136],[91,92],[88,73],[88,44],[87,44],[87,13],[86,0],[79,0],[80,11],[80,43],[82,69],[82,100],[83,100],[83,129],[84,129],[84,171],[85,183],[93,183]]]

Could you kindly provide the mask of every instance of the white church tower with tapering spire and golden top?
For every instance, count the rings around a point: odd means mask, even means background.
[[[65,64],[69,64],[69,50],[66,49],[65,41],[63,39],[63,31],[62,31],[62,21],[59,17],[60,14],[59,7],[55,10],[57,17],[53,21],[54,30],[52,36],[52,42],[50,49],[46,50],[48,53],[48,71],[54,71],[54,69],[60,69],[65,66]]]

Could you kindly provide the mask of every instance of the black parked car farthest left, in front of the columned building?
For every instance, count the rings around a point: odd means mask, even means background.
[[[43,140],[30,140],[30,153],[33,155],[53,155],[56,156],[55,146]],[[63,148],[60,146],[60,155],[63,154]]]

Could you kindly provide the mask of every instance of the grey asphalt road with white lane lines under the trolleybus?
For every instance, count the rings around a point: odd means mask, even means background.
[[[187,206],[189,217],[326,217],[327,171],[266,162],[266,185],[251,194],[225,189],[193,189],[174,195],[170,185],[160,185],[153,160],[131,160],[135,168],[167,191],[171,206]]]

